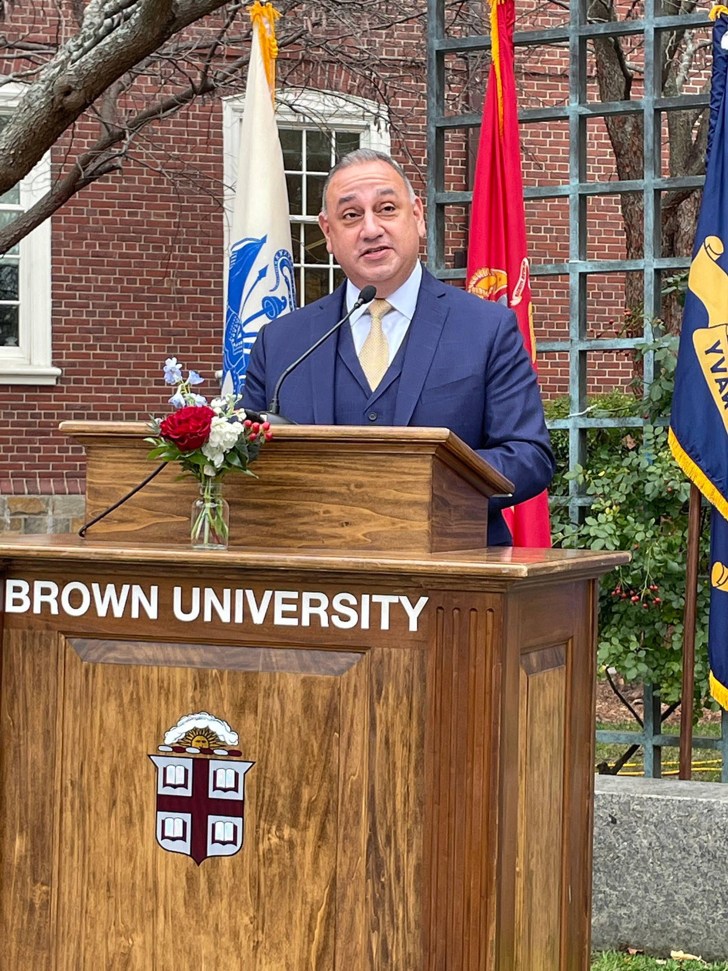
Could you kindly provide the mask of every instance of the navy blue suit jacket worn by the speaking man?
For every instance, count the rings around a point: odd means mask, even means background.
[[[346,313],[345,285],[261,328],[250,354],[244,407],[265,411],[282,371]],[[347,324],[345,324],[347,326]],[[324,342],[281,386],[281,415],[334,424],[337,340]],[[509,544],[500,509],[538,495],[554,472],[544,409],[513,311],[426,270],[410,324],[395,425],[449,428],[515,484],[493,498],[488,543]]]

